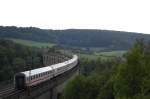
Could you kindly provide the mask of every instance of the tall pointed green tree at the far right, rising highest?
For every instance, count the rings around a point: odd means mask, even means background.
[[[149,55],[145,53],[145,50],[147,49],[145,49],[143,40],[137,40],[126,54],[126,60],[119,65],[114,80],[117,99],[127,99],[143,94],[145,91],[143,87],[150,84],[150,68],[145,65],[147,64],[146,57],[148,58]]]

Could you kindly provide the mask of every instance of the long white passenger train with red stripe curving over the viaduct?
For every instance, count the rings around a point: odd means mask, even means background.
[[[35,86],[44,81],[50,80],[56,77],[78,64],[78,56],[73,57],[65,62],[37,68],[29,71],[19,72],[14,75],[14,86],[15,89],[21,90],[28,87]]]

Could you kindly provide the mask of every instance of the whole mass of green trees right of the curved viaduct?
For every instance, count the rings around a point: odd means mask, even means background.
[[[150,43],[137,40],[123,58],[82,59],[62,99],[150,99]]]

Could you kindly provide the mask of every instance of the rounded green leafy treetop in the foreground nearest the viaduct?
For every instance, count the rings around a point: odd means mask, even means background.
[[[65,89],[64,99],[96,99],[107,78],[93,74],[89,77],[77,76]]]

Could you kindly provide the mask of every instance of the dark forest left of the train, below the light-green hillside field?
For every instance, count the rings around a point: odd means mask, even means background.
[[[0,39],[0,82],[13,80],[15,73],[42,66],[41,49]]]

